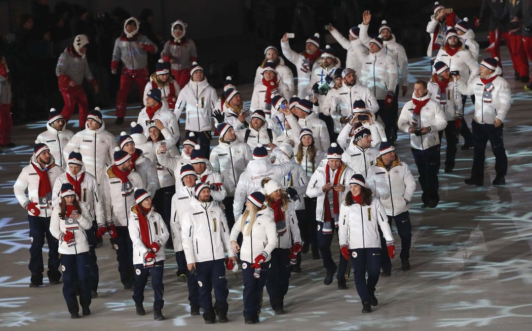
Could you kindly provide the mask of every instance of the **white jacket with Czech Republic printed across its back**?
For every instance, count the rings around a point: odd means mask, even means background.
[[[292,162],[285,153],[282,153],[279,147],[272,150],[280,164],[271,164],[268,159],[251,160],[247,163],[246,170],[240,175],[235,189],[235,201],[233,203],[233,213],[235,220],[242,214],[244,203],[248,195],[261,189],[261,181],[270,177],[281,181],[292,169]]]

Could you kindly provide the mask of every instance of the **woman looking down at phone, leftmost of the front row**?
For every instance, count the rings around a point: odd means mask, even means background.
[[[79,303],[84,316],[90,315],[90,270],[89,243],[85,230],[93,226],[87,217],[89,212],[84,203],[78,201],[70,183],[61,185],[61,202],[52,211],[50,232],[59,239],[61,270],[63,271],[63,297],[70,318],[79,318],[78,299],[74,282],[79,285]]]

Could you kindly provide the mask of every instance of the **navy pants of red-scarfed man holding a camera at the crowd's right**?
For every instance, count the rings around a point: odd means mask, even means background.
[[[439,202],[439,145],[429,147],[426,150],[412,149],[415,165],[418,167],[419,184],[423,190],[421,200],[428,204],[430,200]]]

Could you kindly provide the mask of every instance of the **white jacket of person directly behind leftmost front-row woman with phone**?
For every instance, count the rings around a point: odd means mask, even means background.
[[[70,170],[66,169],[66,172],[59,175],[59,177],[55,179],[55,184],[53,184],[52,205],[54,207],[59,206],[59,203],[61,202],[61,185],[69,182],[66,178],[67,173],[72,176]],[[85,215],[88,219],[91,221],[96,220],[98,225],[105,225],[105,221],[107,220],[105,219],[102,192],[94,176],[85,171],[85,168],[81,168],[78,175],[72,177],[78,180],[83,173],[85,173],[85,176],[81,181],[81,196],[78,197],[78,201],[81,201],[86,205],[88,213]]]

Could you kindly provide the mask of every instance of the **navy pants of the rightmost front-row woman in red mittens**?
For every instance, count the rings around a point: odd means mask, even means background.
[[[375,292],[375,286],[380,275],[380,248],[356,248],[350,249],[351,264],[355,275],[356,292],[362,302],[370,301],[370,294]],[[366,281],[368,273],[368,281]]]

